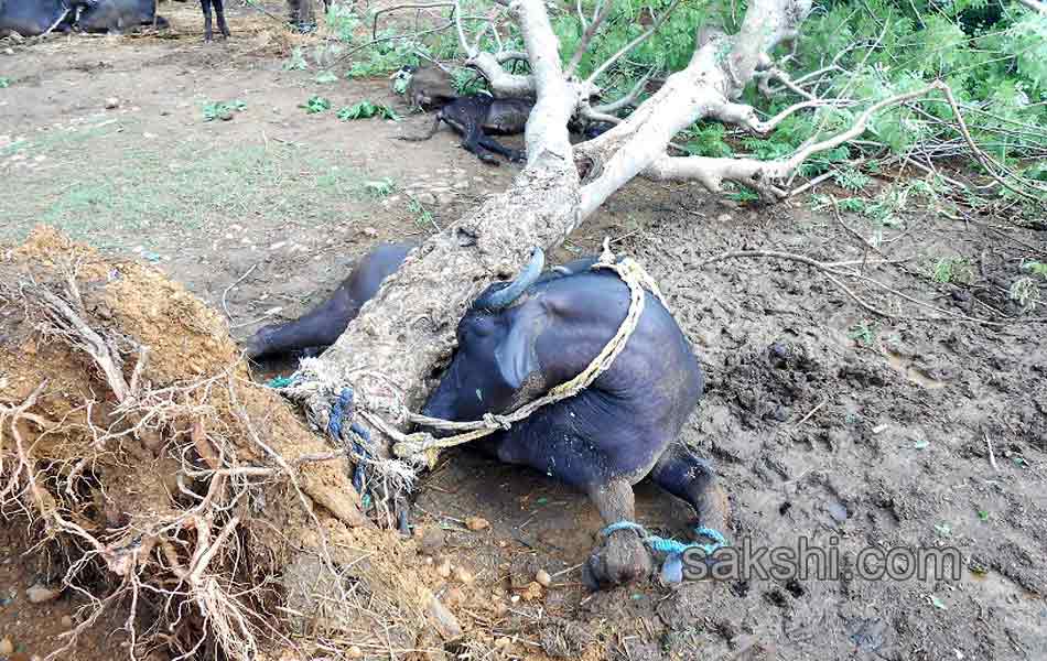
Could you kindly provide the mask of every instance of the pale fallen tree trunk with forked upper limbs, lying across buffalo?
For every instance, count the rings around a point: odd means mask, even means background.
[[[402,407],[417,410],[422,403],[428,379],[454,349],[457,319],[476,294],[515,274],[532,247],[560,245],[633,177],[658,173],[670,140],[697,119],[753,121],[755,115],[733,99],[770,48],[795,39],[809,10],[810,0],[755,0],[738,35],[697,37],[701,43],[684,71],[670,76],[626,121],[572,148],[568,120],[590,108],[595,88],[564,76],[541,0],[510,4],[532,73],[511,76],[492,54],[473,54],[471,61],[496,94],[537,95],[526,130],[527,166],[508,191],[413,251],[342,337],[319,359],[303,362],[300,376],[306,386],[299,394],[314,423],[326,429],[332,401],[349,386],[358,404],[382,415],[381,426],[406,431]],[[358,421],[367,423],[373,437],[380,432],[373,415]]]

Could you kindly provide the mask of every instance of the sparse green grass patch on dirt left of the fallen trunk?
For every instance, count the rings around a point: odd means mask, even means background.
[[[373,197],[358,171],[301,148],[270,143],[212,150],[187,141],[164,150],[136,139],[140,132],[132,130],[94,131],[101,137],[85,144],[87,133],[20,143],[32,153],[46,151],[63,165],[47,176],[15,171],[13,185],[0,186],[0,240],[20,240],[42,221],[101,248],[126,249],[147,234],[179,237],[245,220],[326,225],[344,217],[347,199]],[[101,140],[107,141],[104,155],[85,170],[82,154]]]

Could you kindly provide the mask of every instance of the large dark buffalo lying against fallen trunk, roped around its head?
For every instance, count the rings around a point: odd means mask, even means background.
[[[531,401],[584,370],[614,336],[629,289],[580,260],[539,275],[541,252],[511,283],[488,288],[458,323],[457,351],[424,414],[481,420]],[[633,485],[650,477],[722,530],[714,473],[676,438],[702,393],[698,359],[672,315],[647,294],[636,330],[607,371],[575,397],[478,442],[500,460],[548,473],[586,492],[608,524],[634,521]],[[634,530],[612,532],[591,555],[590,587],[649,575]]]

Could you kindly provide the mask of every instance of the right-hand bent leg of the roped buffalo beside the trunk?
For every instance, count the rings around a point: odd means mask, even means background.
[[[716,474],[709,462],[673,443],[655,464],[650,476],[659,487],[694,508],[699,525],[724,532],[727,524],[727,495],[717,484]]]

